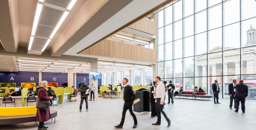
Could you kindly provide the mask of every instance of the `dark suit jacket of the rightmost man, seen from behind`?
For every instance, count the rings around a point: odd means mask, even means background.
[[[245,99],[248,96],[248,86],[244,84],[237,84],[235,87],[235,97],[239,99]]]

